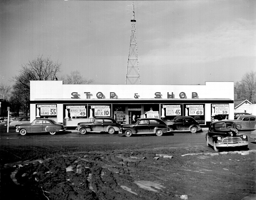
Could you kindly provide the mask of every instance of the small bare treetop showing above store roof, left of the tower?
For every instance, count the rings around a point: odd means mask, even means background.
[[[93,79],[83,78],[80,71],[71,71],[70,75],[62,77],[64,84],[91,84]]]

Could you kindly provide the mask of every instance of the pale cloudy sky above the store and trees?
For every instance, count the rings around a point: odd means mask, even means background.
[[[39,55],[125,84],[132,1],[0,0],[0,83]],[[240,81],[256,71],[255,0],[134,1],[141,84]]]

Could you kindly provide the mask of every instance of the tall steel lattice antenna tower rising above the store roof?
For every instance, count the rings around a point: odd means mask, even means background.
[[[139,76],[139,62],[138,62],[138,52],[137,52],[137,43],[136,43],[136,34],[135,34],[135,15],[134,15],[134,2],[132,2],[132,34],[130,41],[130,49],[129,56],[127,62],[127,70],[126,70],[126,79],[125,84],[130,83],[132,85],[136,84],[139,81],[141,84],[141,79]]]

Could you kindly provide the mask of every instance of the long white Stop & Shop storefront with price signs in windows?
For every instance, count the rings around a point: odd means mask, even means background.
[[[121,124],[137,118],[192,116],[202,126],[234,119],[234,82],[205,85],[65,85],[30,81],[30,119],[52,118],[65,126],[110,116]]]

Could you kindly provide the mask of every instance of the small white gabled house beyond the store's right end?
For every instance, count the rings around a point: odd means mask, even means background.
[[[256,104],[252,104],[248,100],[240,100],[234,102],[234,113],[250,113],[256,115]]]

